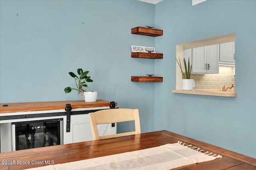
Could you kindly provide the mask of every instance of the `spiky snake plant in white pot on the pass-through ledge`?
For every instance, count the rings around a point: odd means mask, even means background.
[[[182,70],[180,58],[179,58],[179,61],[177,60],[177,58],[175,58],[175,59],[180,67],[181,74],[182,74],[182,90],[193,90],[194,80],[190,79],[192,65],[190,65],[190,63],[189,63],[189,57],[188,57],[188,65],[186,63],[186,60],[183,59],[185,72],[183,72],[183,70]]]

